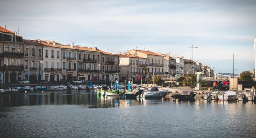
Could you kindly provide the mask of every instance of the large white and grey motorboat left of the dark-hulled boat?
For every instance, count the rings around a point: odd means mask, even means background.
[[[169,93],[169,90],[159,91],[157,87],[152,87],[150,91],[144,91],[141,95],[138,95],[140,98],[162,98]]]

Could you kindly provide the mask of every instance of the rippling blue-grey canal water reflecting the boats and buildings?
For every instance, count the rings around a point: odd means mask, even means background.
[[[256,104],[100,97],[94,91],[0,95],[1,138],[256,137]]]

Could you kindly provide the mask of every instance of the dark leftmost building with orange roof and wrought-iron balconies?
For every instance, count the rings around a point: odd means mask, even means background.
[[[0,84],[22,79],[24,64],[23,37],[0,26]]]

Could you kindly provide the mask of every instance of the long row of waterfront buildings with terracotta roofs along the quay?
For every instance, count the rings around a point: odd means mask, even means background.
[[[138,76],[171,78],[212,69],[199,62],[146,50],[112,54],[97,47],[62,44],[54,40],[23,39],[0,26],[0,83],[22,79],[71,82],[76,79],[138,80]]]

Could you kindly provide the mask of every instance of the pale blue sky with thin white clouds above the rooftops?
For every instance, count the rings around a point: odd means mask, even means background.
[[[254,70],[256,0],[2,0],[0,26],[23,39],[118,54],[184,56],[214,72]],[[19,31],[18,31],[19,30]],[[235,57],[233,57],[233,54]]]

